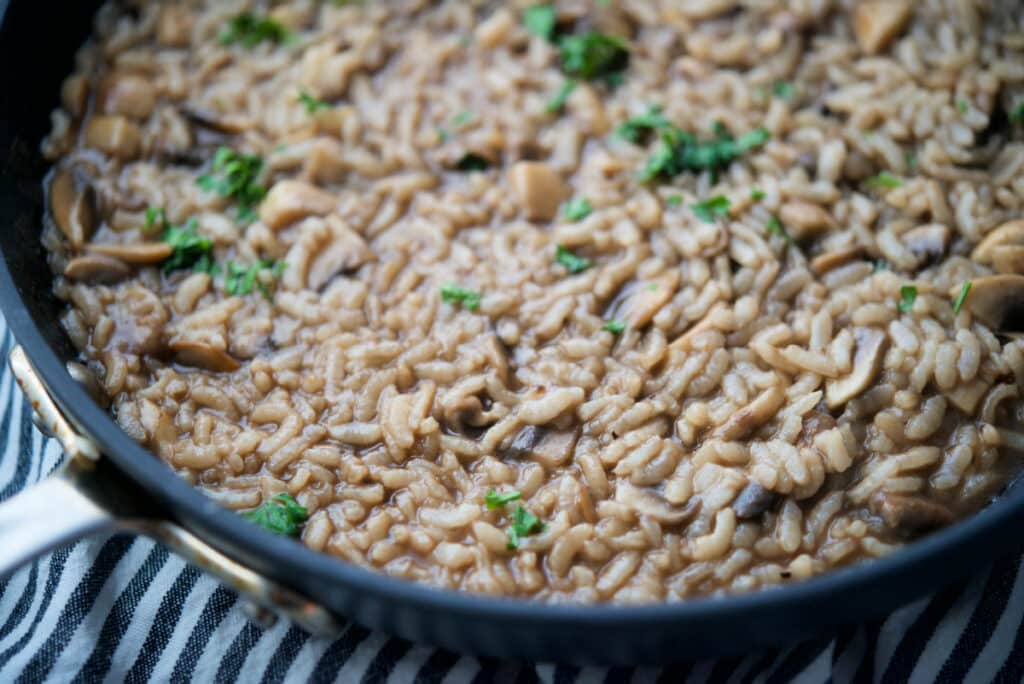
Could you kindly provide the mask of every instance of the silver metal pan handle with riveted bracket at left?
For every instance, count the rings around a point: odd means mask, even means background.
[[[160,542],[234,589],[250,616],[263,624],[283,614],[306,631],[336,636],[340,629],[324,607],[272,582],[220,551],[146,503],[147,498],[78,434],[50,397],[20,346],[10,368],[35,411],[37,426],[53,434],[67,461],[43,482],[0,504],[0,576],[62,544],[101,531],[131,531]]]

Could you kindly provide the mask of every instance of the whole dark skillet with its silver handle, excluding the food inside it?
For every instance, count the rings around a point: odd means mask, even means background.
[[[66,370],[76,353],[40,243],[39,141],[98,2],[0,0],[0,306],[20,345],[12,365],[69,461],[56,477],[0,505],[0,574],[84,535],[153,536],[307,629],[343,621],[480,655],[572,664],[705,659],[822,635],[883,614],[1016,548],[1019,482],[978,514],[892,556],[742,596],[650,606],[541,605],[417,586],[262,531],[173,475],[132,441]],[[101,454],[97,458],[97,455]]]

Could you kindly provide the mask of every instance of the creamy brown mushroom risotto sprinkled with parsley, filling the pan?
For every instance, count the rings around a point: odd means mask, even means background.
[[[1021,464],[1015,0],[115,2],[60,101],[117,420],[345,562],[748,591]]]

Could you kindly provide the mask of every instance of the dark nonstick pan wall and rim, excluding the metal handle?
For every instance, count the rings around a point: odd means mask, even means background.
[[[1017,548],[1021,487],[972,518],[892,556],[759,593],[643,607],[549,606],[388,579],[263,532],[193,489],[132,441],[63,370],[74,350],[58,324],[39,241],[39,141],[97,2],[13,0],[0,28],[0,305],[71,420],[150,499],[228,556],[338,615],[418,642],[501,657],[654,664],[736,654],[883,614]],[[4,2],[0,0],[0,12]]]

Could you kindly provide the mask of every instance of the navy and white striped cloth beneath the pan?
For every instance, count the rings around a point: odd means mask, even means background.
[[[11,340],[0,322],[3,358]],[[0,500],[45,477],[60,450],[0,374]],[[1020,553],[888,618],[745,657],[666,669],[503,662],[349,625],[336,641],[280,621],[263,631],[232,592],[148,540],[60,549],[0,580],[0,682],[1020,682]]]

